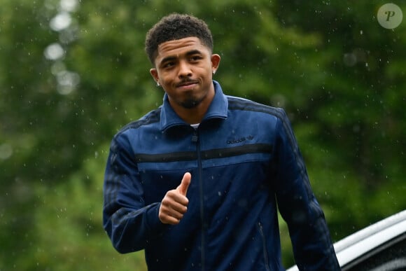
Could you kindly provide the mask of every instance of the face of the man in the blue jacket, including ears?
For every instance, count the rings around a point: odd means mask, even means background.
[[[196,37],[166,41],[158,46],[151,75],[167,92],[175,111],[194,109],[211,102],[212,74],[219,62],[220,56],[211,55],[209,48]]]

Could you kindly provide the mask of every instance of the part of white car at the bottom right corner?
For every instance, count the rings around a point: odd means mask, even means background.
[[[405,271],[406,210],[345,237],[334,248],[342,270]]]

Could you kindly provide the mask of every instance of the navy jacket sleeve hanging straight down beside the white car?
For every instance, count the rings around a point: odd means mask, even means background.
[[[323,211],[286,113],[281,110],[274,142],[274,188],[281,216],[289,229],[300,270],[340,270]]]

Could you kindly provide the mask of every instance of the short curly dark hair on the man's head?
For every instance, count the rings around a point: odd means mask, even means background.
[[[188,14],[172,13],[157,22],[146,34],[145,51],[155,65],[158,46],[166,41],[197,37],[213,52],[213,36],[206,22]]]

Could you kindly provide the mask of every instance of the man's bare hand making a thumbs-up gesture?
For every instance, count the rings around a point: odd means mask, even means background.
[[[169,190],[162,199],[158,217],[164,224],[179,224],[183,215],[188,210],[188,188],[192,176],[189,172],[183,175],[181,184],[174,190]]]

